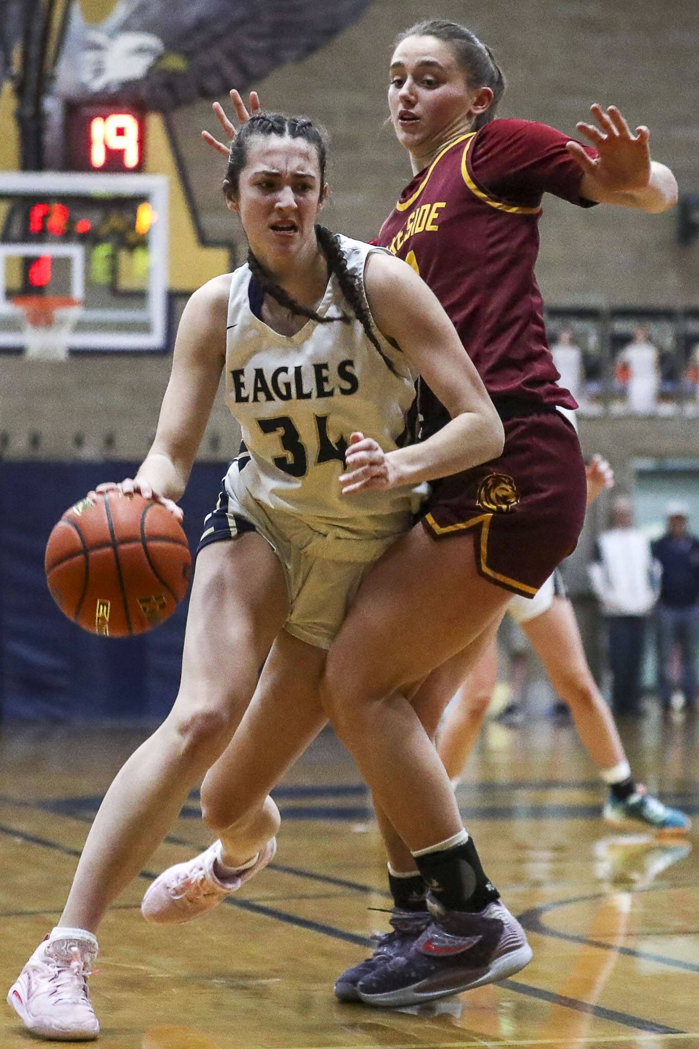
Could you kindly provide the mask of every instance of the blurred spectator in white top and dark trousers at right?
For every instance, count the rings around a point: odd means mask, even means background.
[[[611,526],[599,536],[589,573],[609,630],[612,708],[617,715],[635,716],[640,713],[640,667],[646,619],[656,598],[655,573],[650,543],[633,527],[631,499],[614,501]]]

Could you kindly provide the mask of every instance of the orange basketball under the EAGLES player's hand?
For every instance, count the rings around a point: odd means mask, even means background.
[[[91,634],[111,638],[165,622],[187,594],[191,566],[187,536],[170,511],[117,491],[66,510],[44,558],[61,612]]]

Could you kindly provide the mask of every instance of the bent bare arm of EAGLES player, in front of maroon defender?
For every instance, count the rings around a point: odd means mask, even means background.
[[[365,287],[379,330],[419,371],[452,420],[428,441],[384,452],[353,434],[344,492],[415,485],[501,454],[504,431],[483,382],[436,296],[412,266],[384,252],[369,256]]]

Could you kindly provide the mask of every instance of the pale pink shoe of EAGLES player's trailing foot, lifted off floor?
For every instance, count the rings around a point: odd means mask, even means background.
[[[277,838],[270,838],[250,866],[223,879],[214,873],[214,864],[221,859],[221,842],[215,841],[194,859],[176,863],[163,871],[146,892],[140,913],[146,921],[158,925],[172,925],[200,918],[249,881],[253,875],[275,858],[276,852]]]

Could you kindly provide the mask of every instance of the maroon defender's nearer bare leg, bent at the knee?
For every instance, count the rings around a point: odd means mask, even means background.
[[[328,654],[324,706],[411,852],[458,834],[461,818],[444,767],[400,689],[467,647],[508,600],[479,576],[472,537],[439,542],[418,526],[374,566]]]

